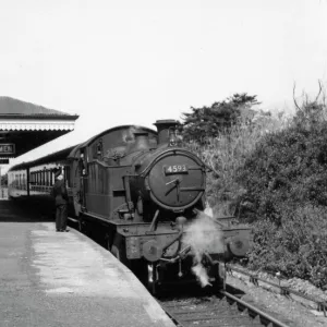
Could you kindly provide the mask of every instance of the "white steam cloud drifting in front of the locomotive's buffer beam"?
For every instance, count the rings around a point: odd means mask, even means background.
[[[209,277],[202,261],[205,253],[223,252],[222,231],[210,216],[199,213],[196,219],[185,228],[183,243],[190,245],[194,255],[193,274],[202,287],[210,286]]]

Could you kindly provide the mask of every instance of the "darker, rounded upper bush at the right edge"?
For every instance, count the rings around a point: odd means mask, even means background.
[[[327,205],[327,123],[269,134],[238,171],[243,214],[280,222],[283,206]]]

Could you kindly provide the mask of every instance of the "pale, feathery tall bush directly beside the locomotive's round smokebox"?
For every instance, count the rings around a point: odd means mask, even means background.
[[[208,173],[206,194],[217,215],[229,216],[239,213],[245,189],[235,179],[237,172],[255,150],[258,141],[283,125],[282,117],[274,118],[259,111],[251,123],[240,120],[217,137],[207,137],[202,144],[194,141],[186,143],[187,148],[213,170]]]

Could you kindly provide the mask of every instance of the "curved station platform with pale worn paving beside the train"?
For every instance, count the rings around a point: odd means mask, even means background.
[[[0,327],[172,327],[138,279],[74,229],[0,201]]]

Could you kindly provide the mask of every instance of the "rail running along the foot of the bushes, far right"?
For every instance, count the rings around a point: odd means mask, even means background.
[[[304,300],[307,300],[307,301],[311,301],[313,303],[315,303],[317,305],[317,311],[318,312],[324,312],[324,316],[327,317],[327,302],[324,301],[323,299],[315,299],[311,295],[307,295],[307,294],[304,294],[304,293],[301,293],[299,291],[295,291],[293,289],[291,289],[290,287],[286,287],[286,286],[282,286],[280,283],[277,283],[277,282],[272,282],[270,280],[266,280],[264,278],[261,278],[258,277],[256,274],[254,272],[247,272],[247,271],[244,271],[243,269],[240,269],[238,267],[234,267],[233,265],[230,265],[230,264],[227,264],[227,271],[229,274],[232,275],[232,271],[235,271],[235,272],[239,272],[241,275],[244,275],[244,276],[247,276],[250,278],[250,281],[252,283],[254,283],[255,286],[259,287],[259,281],[263,282],[263,283],[266,283],[266,284],[269,284],[271,287],[275,287],[277,289],[280,290],[280,294],[281,295],[290,295],[290,294],[294,294],[301,299],[304,299]],[[294,299],[296,300],[296,299]]]

